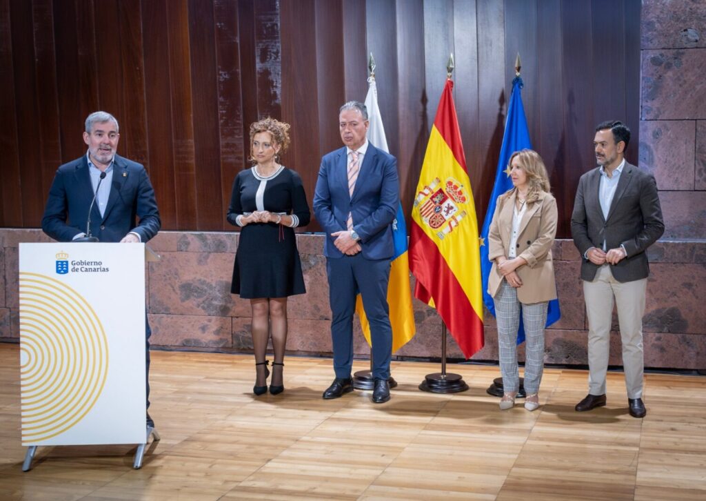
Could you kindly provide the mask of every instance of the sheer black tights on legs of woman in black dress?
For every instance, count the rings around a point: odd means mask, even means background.
[[[251,333],[253,335],[253,351],[255,362],[265,361],[267,345],[270,336],[275,349],[275,362],[283,363],[285,360],[285,346],[287,345],[287,297],[272,297],[251,299],[250,306],[253,310]],[[258,365],[256,386],[265,386],[265,365]],[[282,386],[282,366],[273,365],[272,382],[275,386]]]

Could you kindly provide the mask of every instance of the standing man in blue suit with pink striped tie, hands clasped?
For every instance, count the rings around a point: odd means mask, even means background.
[[[353,314],[357,292],[370,322],[373,402],[390,400],[392,328],[388,308],[392,223],[400,201],[397,160],[366,138],[368,111],[363,103],[340,108],[339,126],[345,146],[321,159],[313,210],[326,232],[324,255],[333,317],[335,379],[323,392],[337,399],[353,391]]]

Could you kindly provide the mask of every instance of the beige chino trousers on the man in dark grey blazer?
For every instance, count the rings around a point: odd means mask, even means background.
[[[613,304],[618,309],[623,369],[628,399],[642,398],[642,375],[645,356],[642,348],[642,315],[645,313],[647,278],[618,282],[611,267],[599,267],[592,282],[583,281],[583,295],[588,317],[588,392],[606,393],[606,372],[610,353]]]

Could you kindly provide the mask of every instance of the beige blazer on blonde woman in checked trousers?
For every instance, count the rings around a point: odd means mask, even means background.
[[[513,207],[517,190],[513,189],[498,196],[495,213],[488,232],[488,259],[493,263],[488,278],[488,293],[495,297],[503,281],[495,262],[497,257],[508,257],[510,238],[513,232]],[[520,221],[516,255],[523,257],[527,264],[515,270],[522,280],[517,288],[517,299],[525,304],[556,299],[554,264],[551,261],[551,247],[556,237],[556,199],[542,191],[539,200],[527,207]]]

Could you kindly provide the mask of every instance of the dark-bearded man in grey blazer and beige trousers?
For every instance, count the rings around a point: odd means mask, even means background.
[[[634,418],[642,403],[642,314],[650,266],[647,247],[664,232],[654,177],[624,158],[630,129],[617,121],[596,127],[599,167],[581,176],[571,233],[583,260],[581,278],[588,317],[589,393],[576,411],[606,405],[606,370],[614,300],[618,309],[628,408]]]

